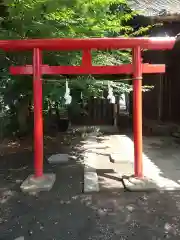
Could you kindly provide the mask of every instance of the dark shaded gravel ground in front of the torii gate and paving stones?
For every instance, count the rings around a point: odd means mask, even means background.
[[[180,239],[180,191],[83,194],[83,167],[72,160],[45,162],[56,183],[29,196],[19,185],[32,173],[32,159],[30,151],[0,159],[0,240]]]

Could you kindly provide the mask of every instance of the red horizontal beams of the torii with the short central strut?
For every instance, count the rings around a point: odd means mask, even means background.
[[[0,49],[5,51],[25,50],[49,50],[49,51],[73,51],[81,50],[82,64],[80,66],[49,66],[40,64],[41,74],[132,74],[134,64],[122,64],[120,66],[93,66],[91,61],[91,50],[106,49],[151,49],[165,50],[172,49],[176,38],[86,38],[86,39],[23,39],[0,41]],[[141,55],[141,53],[139,52]],[[138,57],[139,67],[142,66],[142,73],[163,73],[165,65],[141,64],[141,57]],[[134,56],[134,54],[133,54]],[[136,56],[136,54],[135,54]],[[133,57],[134,58],[134,57]],[[136,58],[136,57],[135,57]],[[134,60],[133,60],[134,61]],[[137,69],[139,69],[139,67]],[[33,65],[11,66],[10,73],[13,75],[32,75]]]

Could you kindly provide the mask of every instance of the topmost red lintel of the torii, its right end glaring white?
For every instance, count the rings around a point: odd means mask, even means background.
[[[86,49],[130,49],[139,46],[141,49],[172,49],[174,37],[151,38],[61,38],[61,39],[22,39],[0,40],[0,49],[4,51],[23,51],[39,48],[41,50],[86,50]]]

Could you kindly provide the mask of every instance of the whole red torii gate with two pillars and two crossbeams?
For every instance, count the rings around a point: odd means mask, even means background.
[[[134,174],[143,177],[142,165],[142,74],[163,73],[165,65],[142,64],[141,50],[172,49],[175,38],[92,38],[92,39],[34,39],[2,40],[4,51],[33,50],[33,64],[11,66],[14,75],[33,75],[34,89],[34,179],[43,175],[43,119],[42,119],[42,75],[43,74],[132,74],[133,75],[133,124],[134,124]],[[93,66],[91,50],[132,49],[132,64],[120,66]],[[81,66],[49,66],[42,63],[42,51],[82,50]]]

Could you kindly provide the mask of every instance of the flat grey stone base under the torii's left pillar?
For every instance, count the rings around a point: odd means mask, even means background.
[[[53,173],[44,174],[42,177],[34,177],[30,175],[21,185],[21,190],[26,193],[38,193],[42,191],[50,191],[56,180]]]

